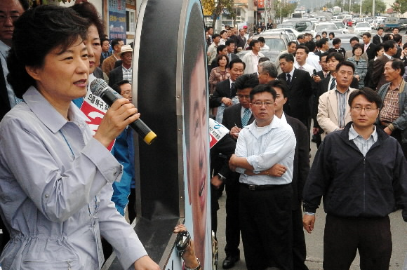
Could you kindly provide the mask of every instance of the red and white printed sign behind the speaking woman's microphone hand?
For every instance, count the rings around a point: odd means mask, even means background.
[[[91,91],[86,93],[84,102],[81,106],[81,111],[88,117],[89,128],[92,130],[92,135],[95,135],[96,130],[98,130],[100,122],[102,122],[103,116],[105,116],[109,106],[100,97],[93,95]],[[114,140],[109,144],[107,149],[112,151],[114,145]]]

